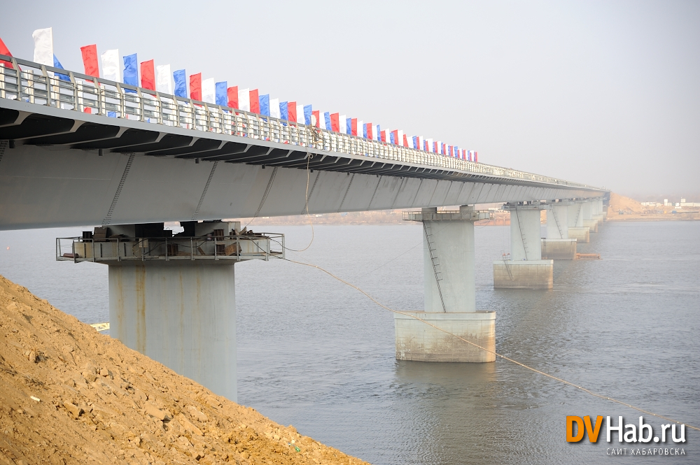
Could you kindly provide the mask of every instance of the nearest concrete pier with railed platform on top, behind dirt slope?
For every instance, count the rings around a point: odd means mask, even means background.
[[[234,265],[283,257],[239,222],[97,227],[57,240],[57,258],[109,265],[110,334],[127,347],[237,401]],[[64,241],[66,249],[63,253]]]

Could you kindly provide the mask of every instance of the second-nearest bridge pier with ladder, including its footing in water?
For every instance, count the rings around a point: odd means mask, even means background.
[[[489,217],[470,206],[459,212],[423,208],[406,220],[423,226],[425,302],[422,312],[394,314],[396,359],[421,362],[493,362],[496,313],[476,310],[474,222]],[[428,323],[428,324],[426,324]],[[451,334],[447,334],[434,325]]]

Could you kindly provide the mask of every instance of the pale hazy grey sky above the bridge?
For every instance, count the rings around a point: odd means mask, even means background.
[[[33,57],[53,27],[461,148],[479,161],[700,201],[699,1],[3,2],[0,37]],[[10,18],[12,18],[10,20]]]

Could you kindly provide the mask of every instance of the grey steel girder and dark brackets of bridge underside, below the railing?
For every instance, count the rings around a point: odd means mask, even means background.
[[[300,215],[307,176],[310,213],[604,194],[25,102],[3,105],[16,108],[0,108],[0,229]]]

